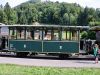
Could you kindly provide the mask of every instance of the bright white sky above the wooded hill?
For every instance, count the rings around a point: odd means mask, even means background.
[[[0,4],[4,6],[6,2],[9,2],[10,6],[14,7],[25,1],[28,1],[28,0],[0,0]],[[45,0],[42,0],[42,1],[45,1]],[[82,7],[87,6],[87,7],[92,7],[92,8],[100,8],[100,0],[49,0],[49,1],[77,3],[77,4],[80,4]]]

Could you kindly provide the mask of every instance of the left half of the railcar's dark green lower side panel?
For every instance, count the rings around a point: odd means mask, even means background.
[[[9,40],[9,49],[19,52],[42,52],[42,42],[28,40]]]

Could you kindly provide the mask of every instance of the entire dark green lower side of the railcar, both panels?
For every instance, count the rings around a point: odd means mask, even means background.
[[[9,48],[15,51],[31,51],[31,52],[62,52],[62,53],[78,53],[79,43],[75,41],[24,41],[10,40]],[[42,51],[43,49],[43,51]]]

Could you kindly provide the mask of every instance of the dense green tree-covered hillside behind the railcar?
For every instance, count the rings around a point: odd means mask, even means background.
[[[100,25],[100,9],[82,8],[76,3],[41,2],[29,0],[14,8],[8,3],[0,6],[0,22],[5,24],[32,24],[33,22],[94,26]]]

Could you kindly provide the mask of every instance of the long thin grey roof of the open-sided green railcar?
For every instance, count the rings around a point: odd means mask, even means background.
[[[65,25],[0,25],[0,27],[54,27],[54,28],[80,28],[89,29],[89,26],[65,26]]]

